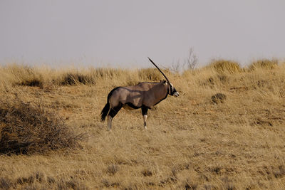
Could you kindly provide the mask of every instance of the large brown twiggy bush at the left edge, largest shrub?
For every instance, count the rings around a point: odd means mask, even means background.
[[[61,118],[41,104],[0,101],[0,153],[33,154],[76,148],[83,134],[75,134]]]

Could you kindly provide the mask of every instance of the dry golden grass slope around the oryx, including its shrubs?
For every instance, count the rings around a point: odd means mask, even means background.
[[[149,111],[147,130],[122,109],[108,132],[110,90],[157,70],[1,66],[0,189],[285,189],[284,63],[165,74],[180,96]]]

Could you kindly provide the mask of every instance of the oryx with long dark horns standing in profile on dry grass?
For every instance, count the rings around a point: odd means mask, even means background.
[[[148,58],[150,62],[153,61]],[[155,65],[160,70],[160,68]],[[157,105],[162,100],[165,100],[167,95],[179,96],[179,93],[175,90],[170,83],[166,75],[160,70],[160,73],[165,77],[160,83],[142,82],[138,85],[117,87],[110,91],[107,98],[107,103],[101,112],[101,121],[105,120],[108,115],[108,130],[111,130],[113,117],[124,108],[142,109],[142,117],[144,120],[144,127],[147,127],[147,110],[154,105]]]

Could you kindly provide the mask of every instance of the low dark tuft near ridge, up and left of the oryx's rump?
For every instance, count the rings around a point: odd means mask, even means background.
[[[82,73],[67,73],[61,80],[61,85],[93,85],[95,79],[91,75],[83,75]]]

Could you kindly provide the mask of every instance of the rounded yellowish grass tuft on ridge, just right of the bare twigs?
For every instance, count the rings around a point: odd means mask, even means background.
[[[239,63],[224,59],[212,61],[209,67],[213,68],[217,73],[238,73],[242,71]]]

